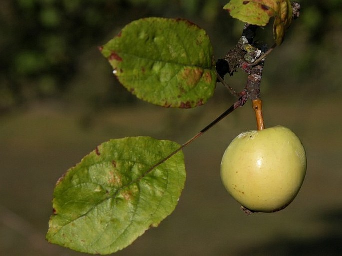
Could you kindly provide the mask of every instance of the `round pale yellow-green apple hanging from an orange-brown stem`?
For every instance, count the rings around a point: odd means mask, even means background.
[[[306,162],[304,147],[290,129],[246,131],[224,152],[221,179],[246,212],[276,212],[296,197]]]

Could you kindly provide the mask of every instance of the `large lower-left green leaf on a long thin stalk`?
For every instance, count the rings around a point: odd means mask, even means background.
[[[150,137],[99,145],[58,180],[47,240],[92,254],[130,245],[174,210],[185,182],[183,152],[160,161],[179,148]]]

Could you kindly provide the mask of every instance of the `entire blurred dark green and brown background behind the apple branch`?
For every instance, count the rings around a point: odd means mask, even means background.
[[[204,28],[215,58],[238,40],[228,0],[1,0],[0,255],[85,255],[45,239],[57,179],[110,138],[185,142],[233,102],[221,85],[204,106],[165,109],[130,95],[97,47],[128,22],[182,17]],[[185,150],[187,182],[175,212],[118,256],[342,255],[342,1],[302,0],[301,15],[267,58],[266,126],[292,129],[308,170],[294,202],[245,215],[221,184],[221,156],[255,129],[247,103]],[[270,29],[260,32],[272,44]],[[227,82],[237,90],[246,76]]]

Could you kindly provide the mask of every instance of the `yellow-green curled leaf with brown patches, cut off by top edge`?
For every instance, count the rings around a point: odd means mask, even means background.
[[[223,8],[233,18],[258,26],[267,25],[270,18],[275,17],[273,36],[277,45],[283,42],[285,30],[292,21],[289,0],[231,0]]]

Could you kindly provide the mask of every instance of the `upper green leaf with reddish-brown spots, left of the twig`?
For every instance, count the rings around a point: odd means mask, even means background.
[[[120,83],[139,99],[192,108],[214,93],[216,70],[210,39],[187,20],[133,21],[100,50]]]

